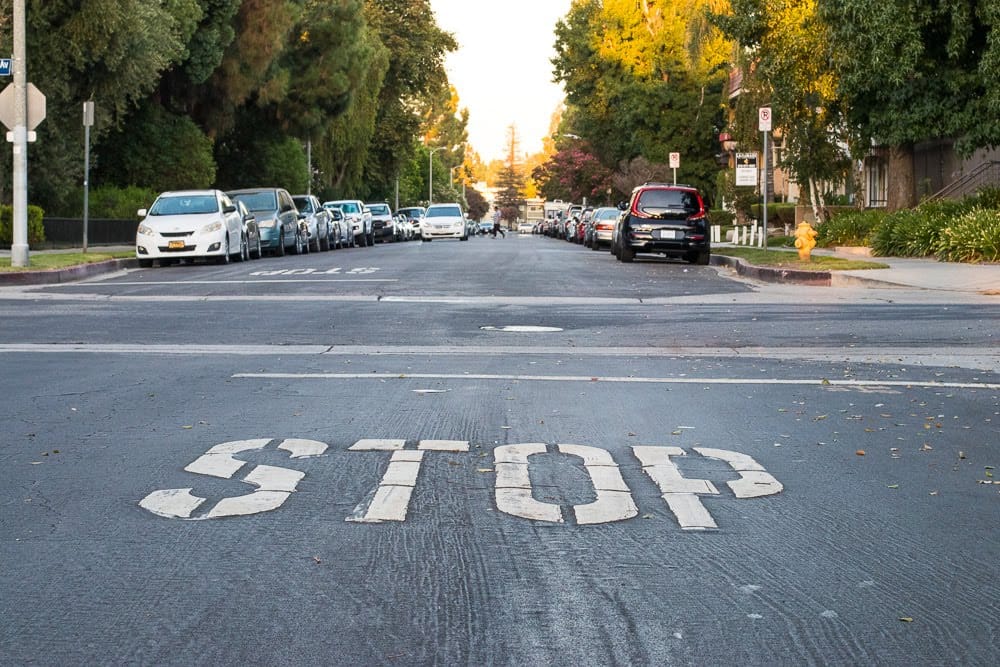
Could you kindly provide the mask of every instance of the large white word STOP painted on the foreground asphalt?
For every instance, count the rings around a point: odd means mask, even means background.
[[[272,440],[239,440],[215,445],[204,455],[184,468],[186,472],[231,479],[246,461],[234,455],[262,450]],[[354,523],[382,523],[405,521],[413,491],[420,477],[424,456],[428,452],[468,453],[465,440],[420,440],[416,449],[408,450],[405,439],[364,439],[354,443],[348,451],[389,452],[389,463],[381,480],[346,518]],[[314,440],[286,439],[277,449],[287,451],[291,458],[322,456],[327,445]],[[719,490],[705,479],[684,477],[676,459],[688,456],[680,447],[643,445],[631,448],[642,465],[643,471],[659,488],[667,508],[683,530],[711,530],[718,528],[701,496],[717,496]],[[741,500],[774,495],[783,490],[782,484],[751,457],[740,452],[709,447],[695,447],[699,456],[726,463],[739,478],[726,482],[733,495]],[[563,509],[555,503],[538,500],[531,481],[531,457],[550,453],[545,443],[502,445],[493,451],[495,472],[495,498],[497,509],[511,516],[546,523],[564,523]],[[638,515],[639,509],[625,483],[618,464],[611,453],[599,447],[559,444],[555,453],[575,456],[583,460],[597,499],[592,503],[572,506],[578,525],[593,525],[624,521]],[[305,473],[277,466],[257,465],[242,481],[257,487],[252,493],[223,498],[207,512],[195,515],[206,498],[195,496],[193,488],[163,489],[153,491],[139,505],[162,517],[171,519],[202,520],[233,516],[247,516],[269,512],[281,507]]]

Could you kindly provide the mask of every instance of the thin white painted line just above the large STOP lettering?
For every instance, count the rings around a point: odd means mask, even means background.
[[[792,385],[812,387],[920,387],[1000,389],[1000,383],[920,380],[828,380],[826,378],[670,378],[589,375],[503,375],[482,373],[235,373],[235,379],[259,380],[502,380],[520,382],[591,382],[615,384]]]

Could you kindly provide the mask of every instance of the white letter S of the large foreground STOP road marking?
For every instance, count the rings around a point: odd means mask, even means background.
[[[270,442],[269,439],[224,442],[211,447],[205,454],[186,466],[184,470],[195,474],[230,479],[247,464],[246,461],[234,458],[234,454],[260,450]],[[278,445],[278,449],[289,452],[292,458],[307,458],[322,455],[326,451],[327,445],[315,440],[292,438],[282,441]],[[153,491],[139,501],[139,506],[153,514],[171,519],[218,519],[258,514],[281,507],[295,492],[298,483],[304,477],[305,473],[289,468],[269,465],[254,466],[242,481],[256,486],[256,491],[242,496],[223,498],[202,517],[192,517],[191,514],[206,499],[193,495],[191,488]]]

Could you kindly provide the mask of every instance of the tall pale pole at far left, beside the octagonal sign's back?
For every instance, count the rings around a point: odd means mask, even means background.
[[[14,0],[14,182],[10,265],[26,267],[28,254],[28,91],[24,0]]]

